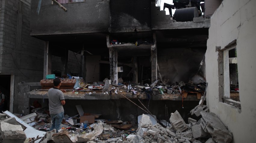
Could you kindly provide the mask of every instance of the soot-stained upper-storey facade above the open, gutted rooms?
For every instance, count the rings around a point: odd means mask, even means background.
[[[175,5],[165,5],[165,10],[178,9],[185,21],[174,20],[172,15],[156,6],[155,0],[55,0],[31,1],[31,36],[89,33],[145,32],[163,29],[209,28],[210,21],[200,15],[189,2],[183,10]],[[171,3],[171,2],[170,2]],[[185,5],[185,4],[184,4]],[[201,8],[205,9],[205,8]],[[186,18],[190,13],[191,15]],[[173,13],[175,16],[175,13]],[[195,17],[200,20],[194,20]]]

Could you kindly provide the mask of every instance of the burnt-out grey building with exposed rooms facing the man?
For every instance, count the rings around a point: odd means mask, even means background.
[[[142,86],[161,80],[161,83],[170,85],[180,81],[188,83],[199,67],[201,76],[205,77],[205,65],[200,66],[200,63],[204,62],[210,19],[199,17],[194,21],[173,22],[170,15],[165,15],[155,2],[148,0],[61,3],[67,12],[52,1],[42,1],[38,14],[38,1],[31,2],[30,35],[45,41],[43,77],[47,74],[59,77],[76,74],[84,77],[86,83],[108,78],[116,85],[120,80]],[[131,11],[131,7],[134,10]],[[67,67],[70,64],[67,53],[76,55],[73,65],[80,66],[79,72],[74,67]],[[62,64],[51,65],[53,56]],[[141,99],[145,104],[149,95],[144,91],[134,95],[135,92],[116,89],[117,94],[115,89],[112,94],[106,91],[79,91],[78,94],[68,91],[65,106],[69,108],[65,112],[72,113],[76,110],[74,105],[81,104],[87,112],[98,112],[106,118],[136,120],[142,111],[123,95],[135,102]],[[45,94],[47,89],[26,93],[30,104],[37,100],[44,104],[42,106],[47,106],[47,101],[42,102],[47,99]],[[164,104],[173,103],[173,107],[178,105],[182,109],[184,100],[183,107],[189,111],[196,106],[201,95],[191,93],[183,99],[181,93],[169,95],[166,91],[153,96],[149,108],[161,118],[165,113],[164,110],[160,113],[159,108],[164,109]],[[91,108],[95,104],[102,107]],[[174,112],[173,107],[169,108]],[[183,116],[188,118],[185,113]]]

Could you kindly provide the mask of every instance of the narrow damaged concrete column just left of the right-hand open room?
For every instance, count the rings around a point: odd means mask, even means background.
[[[151,45],[151,83],[157,80],[157,45],[156,35],[153,34],[154,45]]]

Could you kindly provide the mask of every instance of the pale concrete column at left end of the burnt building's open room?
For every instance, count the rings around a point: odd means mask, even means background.
[[[52,54],[49,51],[49,42],[45,41],[45,49],[44,49],[44,79],[47,74],[52,73]]]

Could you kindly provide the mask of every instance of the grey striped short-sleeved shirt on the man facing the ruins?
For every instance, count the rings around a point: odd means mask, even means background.
[[[51,88],[48,91],[50,114],[59,114],[64,112],[61,100],[65,100],[63,92],[58,88]]]

